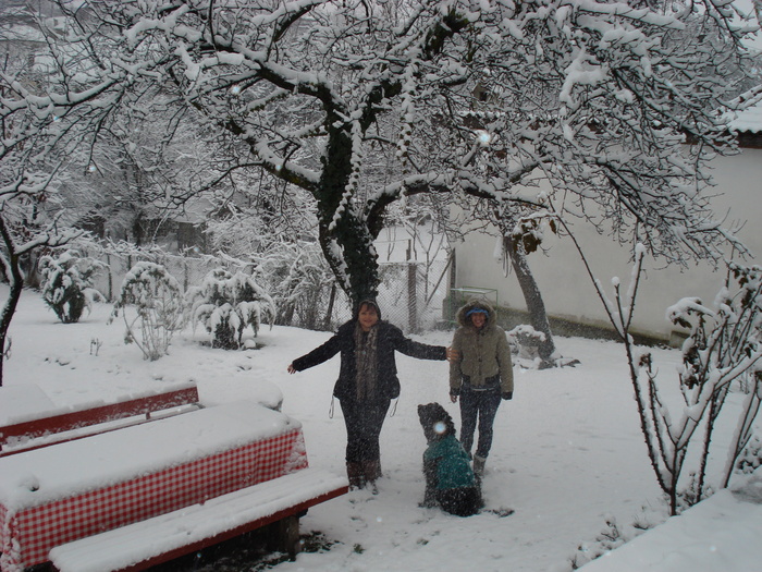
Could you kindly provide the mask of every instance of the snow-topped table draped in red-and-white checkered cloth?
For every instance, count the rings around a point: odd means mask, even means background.
[[[0,569],[307,467],[302,424],[246,400],[1,457]]]

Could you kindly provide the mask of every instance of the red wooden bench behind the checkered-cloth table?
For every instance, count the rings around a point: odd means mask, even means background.
[[[169,391],[153,392],[107,405],[65,410],[61,413],[47,415],[45,417],[8,424],[0,426],[0,457],[16,454],[22,451],[47,447],[54,442],[81,439],[88,435],[124,427],[124,424],[119,427],[109,427],[106,425],[119,419],[144,416],[143,419],[133,422],[132,424],[145,423],[146,421],[150,421],[151,414],[153,413],[184,405],[193,405],[194,407],[200,406],[198,389],[195,384],[182,387],[175,386],[175,389]],[[98,427],[99,425],[100,427]],[[87,427],[89,430],[81,431],[81,434],[75,436],[49,439],[41,443],[28,443],[29,440],[63,434],[84,427]],[[8,446],[13,446],[13,448],[3,451],[2,448]]]

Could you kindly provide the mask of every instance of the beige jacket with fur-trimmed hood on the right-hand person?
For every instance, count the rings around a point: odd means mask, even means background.
[[[475,308],[486,309],[487,322],[477,330],[467,314]],[[496,324],[497,315],[492,306],[481,300],[468,302],[457,312],[459,328],[453,337],[453,350],[458,360],[450,363],[450,391],[458,394],[464,382],[475,389],[496,385],[500,375],[501,393],[513,392],[514,374],[511,346],[505,330]]]

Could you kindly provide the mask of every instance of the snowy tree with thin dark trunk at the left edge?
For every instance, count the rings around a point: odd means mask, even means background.
[[[3,24],[23,24],[19,13],[14,16],[19,17]],[[38,99],[50,88],[49,77],[34,57],[14,49],[21,41],[44,44],[44,37],[14,38],[5,26],[0,34],[4,39],[0,60],[0,275],[10,287],[0,314],[1,386],[8,330],[24,284],[34,276],[35,258],[46,247],[65,245],[81,232],[66,223],[59,195],[60,163],[47,156],[59,141],[54,124],[61,109],[50,98]]]

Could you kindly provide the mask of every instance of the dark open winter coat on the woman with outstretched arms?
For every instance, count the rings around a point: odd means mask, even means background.
[[[356,360],[355,360],[355,326],[356,319],[342,325],[336,333],[325,343],[297,360],[293,366],[297,372],[321,364],[341,352],[339,379],[333,388],[333,394],[340,400],[354,400],[357,394]],[[376,328],[378,341],[376,354],[378,357],[378,379],[376,382],[377,401],[400,397],[400,379],[394,352],[402,352],[419,360],[446,360],[446,348],[443,345],[427,345],[415,342],[402,333],[402,330],[388,321],[379,321]]]

